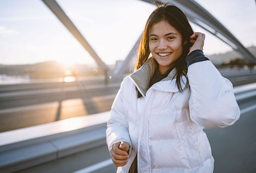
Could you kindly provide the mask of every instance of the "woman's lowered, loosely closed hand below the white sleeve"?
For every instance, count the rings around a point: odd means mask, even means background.
[[[127,142],[116,142],[110,149],[111,159],[116,166],[124,166],[128,162],[130,145]]]

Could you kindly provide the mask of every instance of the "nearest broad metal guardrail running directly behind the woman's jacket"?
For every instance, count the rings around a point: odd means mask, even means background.
[[[234,87],[238,102],[256,97],[256,83]],[[250,106],[241,114],[256,109]],[[0,172],[13,172],[105,145],[109,112],[0,133]]]

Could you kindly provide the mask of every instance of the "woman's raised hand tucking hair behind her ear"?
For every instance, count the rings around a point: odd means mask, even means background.
[[[189,48],[189,53],[197,49],[203,50],[205,34],[201,32],[195,32],[190,36],[190,38],[190,43],[192,46]]]

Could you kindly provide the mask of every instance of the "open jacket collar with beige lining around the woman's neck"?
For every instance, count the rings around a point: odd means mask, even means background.
[[[138,91],[142,96],[146,96],[146,92],[148,90],[150,80],[154,75],[155,70],[157,69],[157,64],[154,58],[149,58],[146,62],[134,73],[130,75],[130,78],[135,83]],[[163,92],[178,92],[178,87],[176,86],[176,78],[174,78],[176,74],[176,68],[174,68],[167,77],[163,78],[161,82],[157,82],[152,85],[152,88],[155,90],[163,91]],[[174,79],[173,79],[174,78]],[[182,82],[183,81],[183,82]],[[185,88],[186,78],[182,76],[181,88]]]

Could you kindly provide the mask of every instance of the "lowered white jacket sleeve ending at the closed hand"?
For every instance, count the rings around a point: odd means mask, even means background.
[[[110,119],[106,128],[106,143],[109,150],[115,142],[123,141],[130,144],[129,154],[131,153],[132,145],[128,130],[127,117],[124,113],[123,103],[123,88],[125,79],[121,83],[121,87],[116,95],[116,98],[111,106]]]

